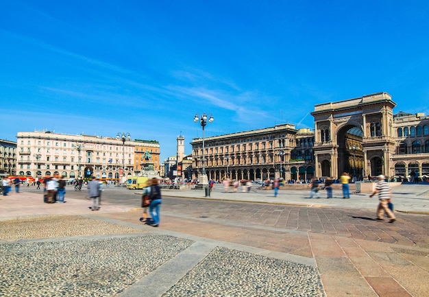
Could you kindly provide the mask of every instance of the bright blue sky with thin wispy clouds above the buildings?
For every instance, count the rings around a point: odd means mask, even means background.
[[[206,136],[293,123],[315,104],[387,92],[429,114],[428,1],[0,3],[0,139],[16,132],[158,140],[196,112]]]

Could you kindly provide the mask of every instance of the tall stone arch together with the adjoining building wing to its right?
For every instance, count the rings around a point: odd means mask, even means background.
[[[316,176],[428,175],[429,119],[423,113],[394,115],[395,106],[384,92],[317,104]]]

